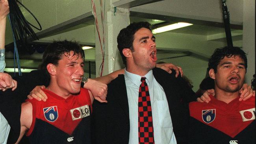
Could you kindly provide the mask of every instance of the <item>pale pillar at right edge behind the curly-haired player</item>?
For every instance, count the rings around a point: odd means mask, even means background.
[[[243,0],[243,50],[248,54],[245,82],[250,84],[255,74],[255,0]]]

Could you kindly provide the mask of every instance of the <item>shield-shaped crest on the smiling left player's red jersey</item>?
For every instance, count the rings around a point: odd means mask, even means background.
[[[45,119],[48,120],[49,122],[54,122],[58,118],[58,109],[57,106],[52,106],[52,107],[45,107],[43,108],[44,114],[45,114]]]

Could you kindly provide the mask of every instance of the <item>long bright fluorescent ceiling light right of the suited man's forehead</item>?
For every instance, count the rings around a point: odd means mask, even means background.
[[[176,24],[170,24],[168,26],[163,26],[163,27],[160,27],[160,28],[156,28],[156,29],[152,30],[152,33],[154,33],[154,34],[162,33],[162,32],[165,32],[165,31],[170,31],[170,30],[183,28],[185,26],[191,26],[191,25],[193,25],[193,24],[189,24],[189,23],[186,23],[186,22],[178,22]]]

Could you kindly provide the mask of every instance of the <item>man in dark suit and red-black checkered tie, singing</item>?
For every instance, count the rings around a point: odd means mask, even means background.
[[[155,68],[156,43],[149,26],[148,22],[130,24],[117,37],[126,68],[124,75],[109,83],[108,103],[93,104],[92,135],[96,144],[187,143],[188,102],[196,100],[195,93],[180,76],[175,78],[174,72]],[[138,95],[143,89],[143,77],[150,112],[142,126]],[[146,133],[141,134],[141,129]]]

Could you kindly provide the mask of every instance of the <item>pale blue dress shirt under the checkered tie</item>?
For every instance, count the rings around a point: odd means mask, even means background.
[[[163,87],[156,81],[150,70],[144,77],[148,85],[152,118],[154,127],[155,144],[176,144],[176,138],[173,133],[173,124],[167,98]],[[141,85],[141,76],[132,74],[125,70],[124,79],[126,83],[126,90],[129,104],[130,117],[130,137],[129,144],[137,144],[138,139],[138,96],[139,86]]]

